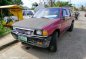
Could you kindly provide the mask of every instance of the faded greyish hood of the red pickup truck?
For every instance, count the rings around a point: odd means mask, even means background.
[[[52,24],[54,19],[46,18],[29,18],[13,24],[14,27],[27,28],[27,29],[43,29],[43,27]]]

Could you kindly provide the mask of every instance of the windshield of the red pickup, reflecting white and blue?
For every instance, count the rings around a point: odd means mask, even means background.
[[[55,19],[59,17],[59,9],[58,8],[41,9],[38,12],[36,12],[33,17]]]

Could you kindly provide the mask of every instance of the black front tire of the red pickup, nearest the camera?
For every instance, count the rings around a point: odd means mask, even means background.
[[[55,32],[52,35],[51,42],[50,42],[50,45],[48,48],[50,52],[56,52],[57,51],[57,39],[58,39],[58,32]]]

